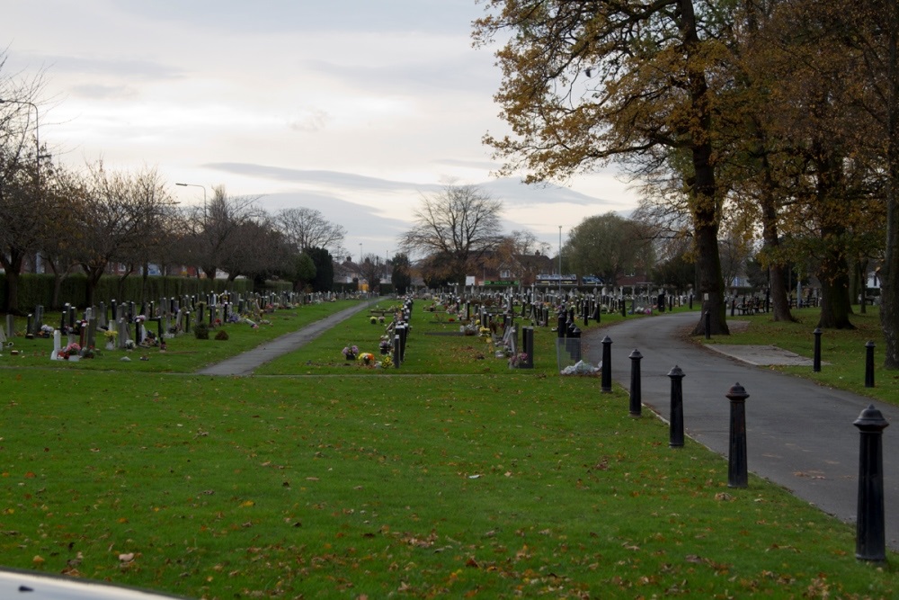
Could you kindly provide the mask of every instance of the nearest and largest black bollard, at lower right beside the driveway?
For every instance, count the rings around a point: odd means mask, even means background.
[[[886,560],[883,433],[889,423],[872,404],[852,425],[861,434],[855,558]]]

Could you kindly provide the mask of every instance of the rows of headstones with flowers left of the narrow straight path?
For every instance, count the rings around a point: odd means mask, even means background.
[[[138,347],[165,350],[166,340],[192,334],[193,328],[200,325],[215,328],[225,323],[245,323],[258,327],[266,322],[264,315],[274,309],[344,300],[346,296],[346,293],[334,292],[225,291],[140,303],[111,300],[109,305],[100,302],[83,311],[66,304],[57,327],[45,322],[44,307],[38,305],[28,315],[25,336],[52,338],[50,360],[54,361],[93,358],[100,348],[107,351],[128,351]],[[14,327],[13,315],[7,315],[5,328],[0,327],[0,343],[8,344],[5,332],[14,335]]]

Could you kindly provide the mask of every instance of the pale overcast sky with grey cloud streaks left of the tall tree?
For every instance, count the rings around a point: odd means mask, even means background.
[[[582,219],[636,205],[614,171],[565,188],[490,174],[504,130],[495,48],[475,0],[4,0],[0,76],[43,74],[40,138],[58,160],[156,167],[176,200],[201,185],[306,206],[346,249],[393,255],[423,194],[481,185],[507,231],[556,251]],[[360,246],[361,245],[361,246]]]

